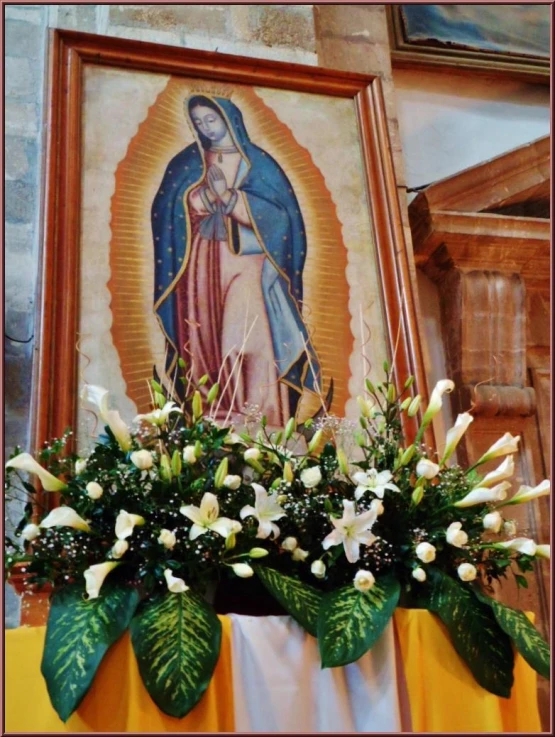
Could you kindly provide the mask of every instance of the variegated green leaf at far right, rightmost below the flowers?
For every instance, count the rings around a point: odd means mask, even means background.
[[[537,671],[540,676],[549,679],[549,645],[524,612],[506,606],[506,604],[486,596],[481,591],[476,591],[476,596],[492,608],[497,624],[509,635],[528,665]]]

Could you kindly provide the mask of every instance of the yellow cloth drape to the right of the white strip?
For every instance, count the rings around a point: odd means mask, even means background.
[[[536,673],[518,653],[511,698],[502,699],[476,683],[437,617],[419,609],[394,617],[414,732],[541,732]]]

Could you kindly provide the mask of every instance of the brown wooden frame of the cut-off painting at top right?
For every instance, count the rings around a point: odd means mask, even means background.
[[[503,76],[525,82],[549,84],[550,60],[540,56],[490,52],[410,42],[406,38],[402,5],[388,5],[391,61],[396,69],[432,69],[453,74]],[[500,6],[501,7],[501,6]]]

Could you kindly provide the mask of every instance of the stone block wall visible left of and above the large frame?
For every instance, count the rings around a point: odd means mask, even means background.
[[[401,149],[383,5],[8,5],[6,8],[6,433],[29,447],[44,87],[50,28],[381,74],[399,184]],[[9,522],[9,521],[8,521]],[[7,592],[8,626],[19,621]]]

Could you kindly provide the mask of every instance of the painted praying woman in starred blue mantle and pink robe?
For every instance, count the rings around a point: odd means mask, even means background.
[[[299,203],[279,164],[251,142],[234,103],[197,95],[186,113],[195,143],[170,161],[152,205],[166,373],[182,356],[197,381],[219,378],[216,419],[255,404],[270,424],[283,425],[303,391],[321,390],[302,315]]]

